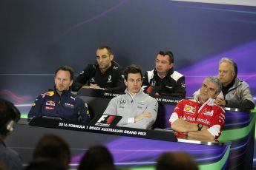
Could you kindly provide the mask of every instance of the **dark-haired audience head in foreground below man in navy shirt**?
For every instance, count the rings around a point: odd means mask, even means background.
[[[57,135],[44,135],[37,143],[33,158],[50,158],[62,165],[70,159],[68,143]]]

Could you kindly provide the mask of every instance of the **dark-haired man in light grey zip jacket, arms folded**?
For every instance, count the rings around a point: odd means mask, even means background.
[[[142,70],[132,64],[124,70],[125,95],[119,95],[108,103],[104,115],[120,115],[117,126],[151,129],[157,118],[157,100],[145,94],[142,89]]]

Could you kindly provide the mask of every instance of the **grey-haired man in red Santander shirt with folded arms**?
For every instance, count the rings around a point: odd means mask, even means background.
[[[214,141],[223,130],[225,112],[214,103],[221,92],[219,79],[207,77],[199,95],[193,99],[183,99],[174,108],[169,123],[177,137],[190,140]]]

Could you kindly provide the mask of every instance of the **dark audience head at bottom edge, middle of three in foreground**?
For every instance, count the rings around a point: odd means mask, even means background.
[[[112,154],[105,146],[93,146],[85,152],[84,156],[80,160],[78,170],[96,170],[102,169],[103,167],[114,169]]]

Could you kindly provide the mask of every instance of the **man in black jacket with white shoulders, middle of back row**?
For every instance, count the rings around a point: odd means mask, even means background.
[[[142,88],[149,95],[185,98],[185,77],[174,71],[174,55],[171,51],[157,54],[155,69],[145,72]]]

